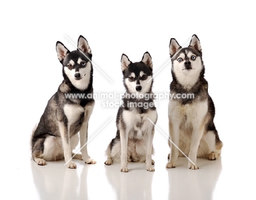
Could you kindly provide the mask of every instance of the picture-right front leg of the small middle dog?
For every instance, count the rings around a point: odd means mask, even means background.
[[[152,166],[152,146],[153,146],[153,138],[155,134],[155,129],[147,133],[147,154],[146,154],[146,167],[147,171],[154,172],[155,168]]]

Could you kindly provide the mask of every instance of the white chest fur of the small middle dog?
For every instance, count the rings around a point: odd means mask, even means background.
[[[154,110],[150,110],[148,113],[138,114],[133,111],[124,111],[123,119],[126,126],[126,131],[130,131],[132,134],[136,131],[136,137],[141,138],[144,133],[152,131],[153,124],[148,120],[152,120],[156,123],[157,113]],[[129,137],[134,137],[134,135],[129,135]]]

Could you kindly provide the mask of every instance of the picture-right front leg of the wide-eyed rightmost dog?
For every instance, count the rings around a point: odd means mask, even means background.
[[[196,157],[197,157],[197,150],[199,148],[200,140],[203,135],[203,126],[199,124],[194,124],[193,131],[192,131],[192,137],[191,137],[191,144],[190,144],[190,151],[189,151],[189,159],[193,161],[189,161],[188,168],[189,169],[199,169],[199,167],[196,164]]]

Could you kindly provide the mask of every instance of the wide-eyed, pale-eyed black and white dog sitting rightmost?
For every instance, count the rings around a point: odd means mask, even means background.
[[[173,78],[170,84],[170,95],[175,97],[177,94],[179,96],[194,94],[194,98],[170,98],[168,103],[169,139],[185,155],[188,155],[188,168],[199,169],[196,163],[197,157],[216,160],[223,146],[213,123],[215,108],[208,94],[208,83],[204,77],[202,49],[196,35],[193,35],[186,48],[182,48],[174,38],[171,39],[169,47]],[[178,156],[182,154],[170,140],[168,145],[170,154],[168,154],[166,168],[174,168]]]

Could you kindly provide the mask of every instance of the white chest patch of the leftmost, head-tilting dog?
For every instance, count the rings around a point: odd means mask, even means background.
[[[64,106],[64,113],[68,119],[68,124],[73,124],[84,113],[84,108],[79,105],[66,104]]]

